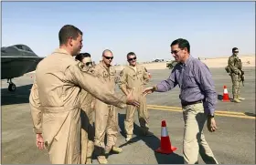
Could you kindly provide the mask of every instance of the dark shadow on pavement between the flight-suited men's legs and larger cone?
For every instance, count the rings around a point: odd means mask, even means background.
[[[124,123],[123,123],[124,119],[125,119],[125,114],[118,114],[119,126],[120,126],[120,129],[122,129],[121,134],[123,135],[124,138],[126,138],[125,133],[124,133]],[[123,148],[124,146],[127,146],[129,144],[132,144],[134,142],[137,142],[139,140],[143,140],[144,143],[151,150],[156,150],[159,148],[160,139],[158,139],[155,135],[153,135],[151,137],[144,137],[144,136],[142,136],[142,133],[141,133],[142,131],[140,129],[140,126],[138,126],[136,123],[134,123],[133,126],[134,126],[133,134],[136,137],[131,139],[131,141],[126,142],[123,145],[121,145],[120,146],[121,148]],[[184,163],[183,157],[176,153],[165,155],[165,154],[155,152],[155,159],[157,160],[158,164],[183,164]]]

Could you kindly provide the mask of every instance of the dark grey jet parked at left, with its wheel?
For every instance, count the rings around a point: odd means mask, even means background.
[[[24,74],[36,70],[37,64],[44,57],[37,57],[36,53],[26,45],[14,45],[1,47],[1,79],[7,79],[8,90],[15,91],[16,85],[12,78],[21,77]]]

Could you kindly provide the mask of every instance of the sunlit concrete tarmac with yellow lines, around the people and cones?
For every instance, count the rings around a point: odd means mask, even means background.
[[[219,163],[255,163],[255,68],[245,67],[245,87],[241,95],[242,103],[222,102],[223,86],[226,85],[231,98],[231,80],[224,68],[210,69],[219,94],[216,121],[217,132],[210,133],[205,127],[205,136]],[[148,87],[169,76],[170,70],[149,70],[152,75]],[[28,96],[33,83],[33,75],[13,79],[16,92],[7,90],[6,80],[2,80],[2,163],[49,163],[46,150],[37,150],[35,134],[28,106]],[[119,91],[120,92],[120,91]],[[182,164],[182,139],[184,123],[178,98],[179,88],[166,93],[147,96],[150,115],[150,130],[153,137],[140,135],[139,122],[135,114],[134,138],[126,143],[123,138],[124,109],[119,110],[121,133],[118,144],[123,153],[109,156],[110,164]],[[156,153],[160,145],[161,121],[165,119],[175,153],[163,155]],[[204,161],[199,157],[199,163]],[[98,164],[97,160],[93,163]]]

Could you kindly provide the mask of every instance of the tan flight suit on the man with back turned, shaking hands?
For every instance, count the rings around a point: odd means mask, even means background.
[[[42,133],[53,164],[80,163],[81,88],[107,104],[126,107],[126,97],[106,90],[108,86],[89,67],[64,49],[58,48],[37,65],[29,103],[34,131]]]

